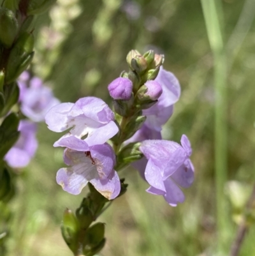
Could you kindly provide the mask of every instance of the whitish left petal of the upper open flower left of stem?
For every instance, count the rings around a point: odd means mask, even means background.
[[[74,103],[61,103],[52,107],[45,116],[48,128],[54,132],[63,132],[71,128],[68,124],[68,112]]]

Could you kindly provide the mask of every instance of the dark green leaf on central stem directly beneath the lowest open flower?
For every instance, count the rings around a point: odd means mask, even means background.
[[[86,198],[82,200],[82,204],[75,211],[75,215],[77,216],[80,229],[87,229],[89,225],[91,225],[91,223],[93,222],[93,216],[89,207],[89,201]]]

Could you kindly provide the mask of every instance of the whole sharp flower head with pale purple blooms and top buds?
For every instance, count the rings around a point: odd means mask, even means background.
[[[65,147],[68,167],[57,172],[57,183],[65,191],[77,195],[91,183],[104,197],[115,199],[120,193],[116,170],[131,163],[149,183],[147,192],[163,195],[171,206],[184,201],[180,188],[194,180],[192,149],[186,135],[180,144],[161,137],[162,126],[180,97],[179,81],[164,70],[163,61],[152,50],[143,56],[136,50],[129,52],[129,72],[108,85],[114,113],[95,97],[61,103],[48,111],[48,128],[67,130],[54,143]]]

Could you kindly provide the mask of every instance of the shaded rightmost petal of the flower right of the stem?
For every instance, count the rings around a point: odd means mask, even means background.
[[[191,160],[187,159],[179,169],[171,175],[171,179],[183,188],[189,188],[194,181],[194,167]]]

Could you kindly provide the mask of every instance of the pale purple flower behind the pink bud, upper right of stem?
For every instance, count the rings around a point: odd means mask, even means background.
[[[149,128],[160,132],[161,126],[163,126],[173,114],[173,104],[179,100],[180,84],[175,75],[164,70],[162,66],[155,81],[161,85],[163,93],[158,98],[155,105],[149,109],[143,110],[143,114],[147,116],[145,124]]]

